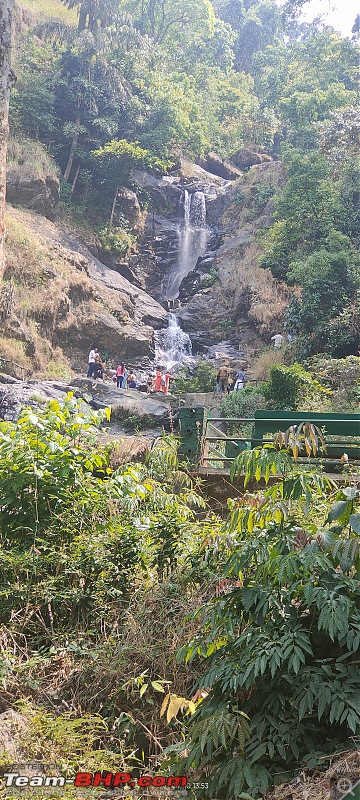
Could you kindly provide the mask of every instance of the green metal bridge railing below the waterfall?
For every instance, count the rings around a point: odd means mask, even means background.
[[[203,407],[179,412],[179,456],[200,472],[230,472],[244,450],[273,442],[279,431],[309,423],[321,431],[325,451],[309,458],[300,452],[298,462],[317,459],[326,472],[344,463],[360,467],[360,415],[305,411],[258,410],[254,417],[212,417]]]

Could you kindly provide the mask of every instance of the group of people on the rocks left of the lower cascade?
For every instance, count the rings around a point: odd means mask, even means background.
[[[116,383],[118,389],[137,389],[138,383],[134,373],[127,369],[126,364],[121,362],[116,369],[109,367],[103,360],[96,347],[92,347],[88,358],[88,378],[105,380],[108,378]],[[167,394],[170,381],[173,375],[168,370],[163,374],[160,367],[156,368],[155,373],[149,373],[146,381],[146,392],[163,392]]]

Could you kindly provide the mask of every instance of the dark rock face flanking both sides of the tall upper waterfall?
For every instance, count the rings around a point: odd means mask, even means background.
[[[281,324],[289,300],[288,288],[258,267],[262,235],[273,222],[272,196],[285,179],[284,170],[264,154],[254,151],[252,157],[258,163],[246,174],[234,168],[238,177],[231,182],[186,161],[174,178],[137,177],[150,188],[156,210],[148,216],[136,269],[160,301],[164,275],[177,258],[183,189],[206,193],[212,234],[207,251],[180,285],[176,307],[195,351],[224,342],[240,349],[260,346]]]

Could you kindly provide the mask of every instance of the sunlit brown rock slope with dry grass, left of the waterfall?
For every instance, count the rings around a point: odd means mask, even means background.
[[[83,371],[92,344],[135,367],[153,355],[154,330],[166,312],[146,292],[107,268],[73,234],[36,214],[8,209],[0,355],[54,377]]]

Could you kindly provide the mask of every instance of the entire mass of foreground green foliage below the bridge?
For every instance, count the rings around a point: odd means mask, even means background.
[[[171,437],[114,466],[106,418],[69,395],[0,423],[0,666],[26,752],[258,797],[359,729],[359,492],[267,445],[233,475],[281,477],[224,521]]]

